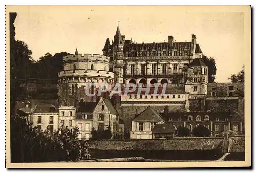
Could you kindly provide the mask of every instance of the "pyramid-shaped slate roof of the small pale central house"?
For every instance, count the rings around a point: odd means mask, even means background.
[[[154,116],[152,117],[152,114]],[[159,122],[163,121],[162,116],[151,106],[148,106],[144,111],[142,111],[139,115],[136,115],[133,121],[136,122],[151,122],[151,121]]]

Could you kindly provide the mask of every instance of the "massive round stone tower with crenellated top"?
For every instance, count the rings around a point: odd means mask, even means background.
[[[78,102],[96,102],[102,83],[111,89],[114,74],[109,71],[110,58],[98,54],[79,54],[63,57],[63,71],[59,72],[59,101],[63,105],[78,106]]]

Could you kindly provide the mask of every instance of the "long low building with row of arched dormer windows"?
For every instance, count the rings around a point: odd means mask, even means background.
[[[238,113],[230,112],[165,112],[161,113],[166,123],[172,123],[177,128],[187,127],[190,131],[198,125],[205,126],[210,136],[219,137],[223,131],[243,133],[242,118]]]

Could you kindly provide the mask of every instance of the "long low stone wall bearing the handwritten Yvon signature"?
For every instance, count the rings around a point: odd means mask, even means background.
[[[99,150],[212,150],[223,148],[223,138],[179,138],[151,140],[91,140],[89,147]]]

